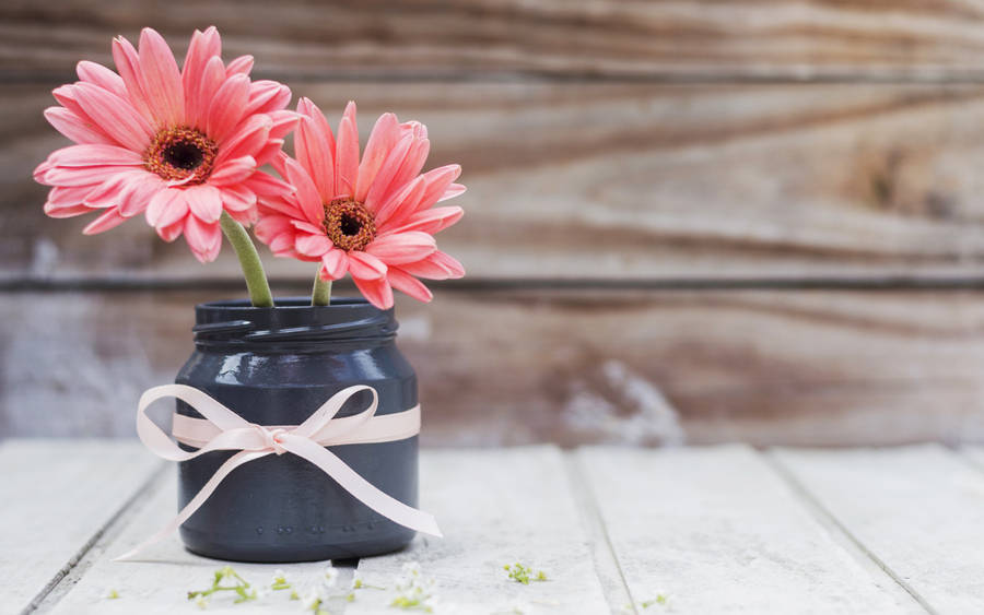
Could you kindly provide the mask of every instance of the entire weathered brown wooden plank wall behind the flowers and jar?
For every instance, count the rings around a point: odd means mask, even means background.
[[[5,2],[0,437],[128,435],[242,295],[139,222],[46,218],[49,92],[142,25],[337,114],[427,123],[469,277],[402,300],[430,443],[984,439],[984,8],[828,2]],[[279,291],[312,274],[267,258]],[[476,352],[477,347],[491,348]]]

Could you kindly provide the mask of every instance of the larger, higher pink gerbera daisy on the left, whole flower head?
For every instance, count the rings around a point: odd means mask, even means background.
[[[204,262],[219,253],[223,211],[249,223],[257,194],[289,192],[257,168],[296,123],[296,114],[283,110],[291,92],[250,81],[251,57],[226,66],[220,54],[214,27],[196,31],[178,71],[161,35],[144,28],[139,51],[122,37],[113,42],[119,74],[79,62],[79,81],[55,90],[61,106],[45,111],[77,143],[52,152],[34,173],[52,187],[45,213],[102,212],[85,227],[90,235],[145,212],[164,240],[184,233]]]

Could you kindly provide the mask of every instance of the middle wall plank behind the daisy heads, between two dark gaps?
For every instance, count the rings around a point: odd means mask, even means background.
[[[481,279],[976,275],[984,86],[294,83],[430,126],[460,162],[465,218],[440,237]],[[0,92],[0,274],[238,276],[141,220],[83,237],[50,220],[34,165],[66,141],[39,86]],[[266,250],[263,253],[267,255]],[[309,267],[267,258],[273,275]]]

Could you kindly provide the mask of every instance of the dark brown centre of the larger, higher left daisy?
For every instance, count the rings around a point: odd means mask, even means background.
[[[143,166],[164,179],[201,184],[212,173],[218,151],[214,141],[194,128],[165,128],[147,149]]]

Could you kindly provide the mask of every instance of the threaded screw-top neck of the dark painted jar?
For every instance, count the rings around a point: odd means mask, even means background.
[[[399,327],[394,310],[361,298],[312,306],[307,297],[278,299],[257,308],[246,300],[214,301],[195,308],[195,345],[230,352],[326,352],[391,344]]]

